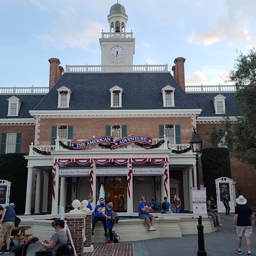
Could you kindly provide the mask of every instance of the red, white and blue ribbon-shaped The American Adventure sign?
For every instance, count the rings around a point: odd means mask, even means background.
[[[77,139],[71,140],[71,147],[73,149],[89,148],[98,144],[108,143],[111,145],[111,149],[122,147],[128,143],[140,142],[143,143],[143,147],[146,149],[151,148],[152,138],[146,135],[133,135],[115,140],[113,136],[101,136],[91,140],[79,141]]]

